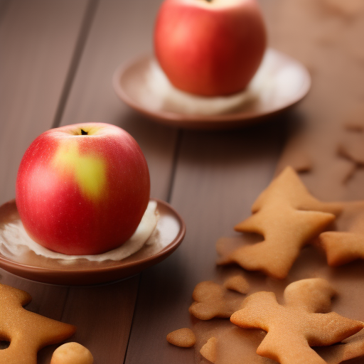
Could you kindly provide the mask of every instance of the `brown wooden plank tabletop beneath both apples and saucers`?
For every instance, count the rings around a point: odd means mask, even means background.
[[[193,350],[166,342],[190,326],[193,287],[219,274],[215,241],[250,215],[274,175],[288,112],[240,130],[199,132],[154,124],[112,90],[120,63],[151,52],[161,0],[0,0],[0,203],[15,196],[18,164],[51,127],[107,122],[127,130],[144,151],[151,196],[186,222],[181,247],[137,277],[99,287],[57,287],[0,269],[0,283],[28,291],[28,309],[77,326],[73,341],[95,364],[194,363]],[[283,1],[261,1],[270,45],[289,53],[275,20]],[[293,52],[294,53],[294,52]],[[301,110],[304,109],[304,105]],[[49,363],[55,346],[41,350]]]

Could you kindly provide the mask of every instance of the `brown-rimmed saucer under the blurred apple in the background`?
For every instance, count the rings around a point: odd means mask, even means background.
[[[272,48],[267,50],[266,56],[259,69],[260,75],[267,75],[262,82],[264,85],[260,87],[261,92],[258,92],[254,101],[237,105],[223,114],[184,113],[180,111],[181,105],[176,109],[176,102],[171,104],[163,95],[153,92],[149,79],[151,67],[156,61],[151,55],[120,65],[112,83],[120,99],[156,122],[186,129],[242,127],[295,105],[311,87],[308,70],[297,60]]]

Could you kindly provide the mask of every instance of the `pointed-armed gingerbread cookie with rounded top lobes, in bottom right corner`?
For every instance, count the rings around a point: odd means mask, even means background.
[[[303,279],[284,291],[284,306],[272,292],[248,296],[230,321],[242,328],[262,328],[267,336],[257,354],[281,364],[325,364],[311,346],[329,346],[358,333],[364,323],[329,309],[334,291],[324,279]]]

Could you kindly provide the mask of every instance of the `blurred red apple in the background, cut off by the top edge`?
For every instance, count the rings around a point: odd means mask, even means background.
[[[256,0],[166,0],[154,29],[159,65],[180,90],[230,95],[247,86],[267,36]]]

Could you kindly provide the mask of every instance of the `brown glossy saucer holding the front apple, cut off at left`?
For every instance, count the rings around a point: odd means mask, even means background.
[[[9,259],[0,253],[0,267],[19,277],[37,282],[64,285],[88,285],[112,282],[141,272],[151,265],[161,262],[171,255],[181,244],[186,233],[186,225],[176,210],[168,203],[156,198],[159,220],[156,228],[158,232],[152,234],[144,247],[130,257],[120,261],[90,262],[87,259],[77,259],[60,262],[34,252],[28,252],[18,259]],[[14,223],[20,217],[16,209],[15,200],[0,206],[0,239],[1,232],[6,227],[13,227],[11,234],[16,234]],[[155,241],[151,241],[151,240]],[[149,242],[151,244],[149,244]]]

